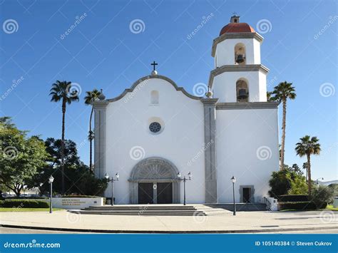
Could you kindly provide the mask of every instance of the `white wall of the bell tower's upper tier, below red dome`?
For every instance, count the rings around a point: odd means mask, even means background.
[[[260,41],[255,38],[227,38],[217,43],[215,51],[215,68],[235,64],[235,46],[245,46],[246,64],[260,64]]]

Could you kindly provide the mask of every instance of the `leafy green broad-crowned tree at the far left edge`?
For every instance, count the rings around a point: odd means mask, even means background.
[[[0,183],[19,197],[37,170],[46,165],[48,154],[38,137],[27,138],[26,131],[7,123],[0,120]]]

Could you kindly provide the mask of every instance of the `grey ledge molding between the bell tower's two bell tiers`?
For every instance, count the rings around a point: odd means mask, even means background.
[[[208,86],[212,87],[212,82],[215,76],[220,75],[221,73],[225,72],[240,72],[240,71],[261,71],[262,73],[268,73],[270,70],[269,68],[263,66],[262,64],[249,64],[249,65],[224,65],[219,68],[215,68],[214,70],[210,71],[209,76],[209,83]]]

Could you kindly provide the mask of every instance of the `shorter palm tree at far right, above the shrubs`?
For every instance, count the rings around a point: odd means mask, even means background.
[[[309,135],[305,135],[303,138],[299,139],[300,142],[296,144],[296,153],[299,157],[307,156],[307,185],[309,189],[309,196],[311,196],[311,155],[319,155],[320,153],[320,144],[319,139],[317,137],[310,137]]]

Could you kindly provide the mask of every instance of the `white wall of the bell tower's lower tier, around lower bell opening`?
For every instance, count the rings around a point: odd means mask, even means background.
[[[212,83],[214,98],[219,103],[237,102],[236,82],[244,78],[249,89],[249,102],[267,101],[267,75],[261,71],[224,72],[215,76]]]

